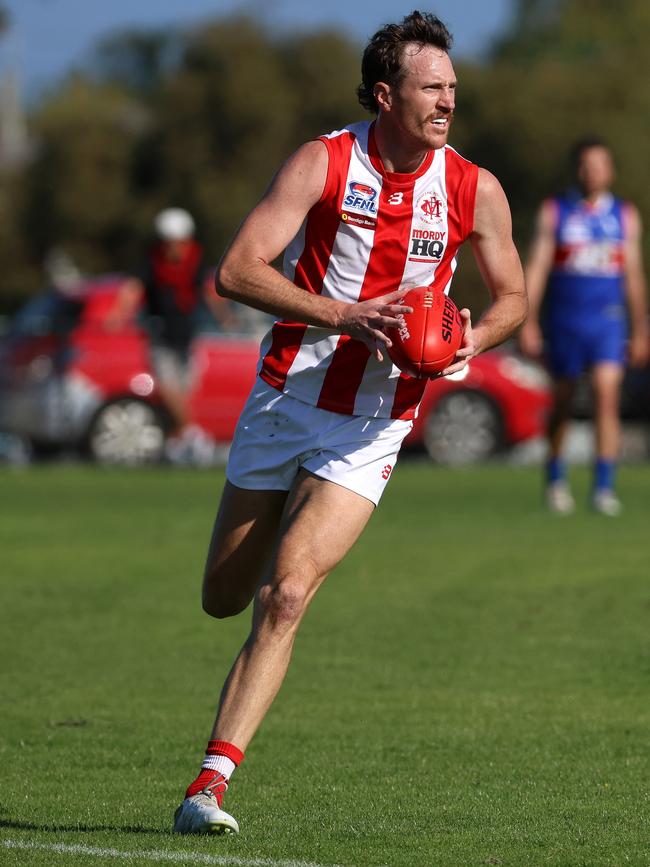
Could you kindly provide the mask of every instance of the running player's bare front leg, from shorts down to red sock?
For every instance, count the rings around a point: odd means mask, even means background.
[[[364,497],[301,472],[287,500],[272,567],[255,595],[251,634],[221,695],[213,738],[246,748],[282,684],[307,606],[373,508]]]

